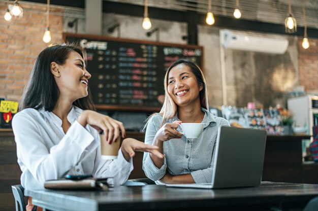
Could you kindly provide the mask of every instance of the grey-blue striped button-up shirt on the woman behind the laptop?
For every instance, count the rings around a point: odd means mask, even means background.
[[[212,115],[208,110],[205,112],[202,123],[204,129],[199,138],[170,139],[164,142],[164,164],[157,168],[149,153],[144,153],[142,168],[146,176],[157,181],[164,177],[166,171],[171,175],[191,173],[196,183],[211,183],[213,172],[214,146],[217,137],[217,129],[222,125],[230,126],[229,122],[220,117]],[[175,115],[168,122],[180,121]],[[152,117],[147,125],[145,144],[152,145],[157,131],[162,122],[161,115]],[[213,156],[212,156],[213,155]]]

